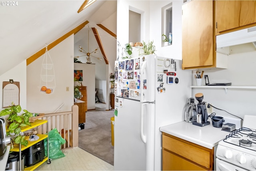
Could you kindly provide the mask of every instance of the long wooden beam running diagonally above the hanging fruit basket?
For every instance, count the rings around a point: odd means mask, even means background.
[[[84,28],[84,26],[86,26],[86,24],[88,24],[89,22],[86,20],[85,22],[83,22],[82,24],[80,24],[79,26],[77,26],[76,28],[74,28],[73,30],[71,30],[70,32],[64,34],[63,36],[61,36],[60,38],[58,38],[57,40],[55,40],[54,42],[52,42],[51,44],[48,44],[47,46],[47,50],[52,49],[54,46],[56,46],[57,44],[59,44],[60,42],[62,42],[63,40],[65,40],[66,38],[68,38],[69,36],[71,36],[72,34],[76,34],[77,32],[79,32],[79,30],[81,30],[82,28]],[[42,48],[41,50],[39,50],[38,52],[36,52],[34,55],[30,56],[26,62],[27,62],[27,66],[29,64],[31,64],[33,61],[35,61],[37,58],[39,58],[40,56],[42,56],[46,51],[46,48]]]

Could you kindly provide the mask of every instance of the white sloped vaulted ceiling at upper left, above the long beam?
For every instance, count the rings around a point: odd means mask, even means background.
[[[83,2],[83,0],[18,0],[18,4],[14,6],[2,5],[0,7],[0,75],[86,20],[89,21],[90,28],[100,29],[96,24],[101,24],[116,12],[116,0],[97,0],[78,13]],[[82,36],[80,38],[82,39]],[[96,41],[94,44],[98,47]]]

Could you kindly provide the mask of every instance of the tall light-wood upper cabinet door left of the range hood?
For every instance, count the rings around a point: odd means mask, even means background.
[[[185,3],[182,6],[183,69],[214,64],[213,36],[213,2]]]

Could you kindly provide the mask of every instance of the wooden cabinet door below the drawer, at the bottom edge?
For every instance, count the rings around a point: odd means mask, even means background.
[[[163,150],[163,170],[206,170],[194,163],[191,163],[177,155]]]

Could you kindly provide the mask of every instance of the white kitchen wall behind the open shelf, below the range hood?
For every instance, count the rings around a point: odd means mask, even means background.
[[[232,82],[232,85],[256,85],[256,49],[252,43],[230,47],[228,56],[228,69],[204,70],[210,83]],[[198,70],[202,71],[202,70]],[[195,72],[193,72],[195,73]],[[196,85],[192,74],[192,85]],[[205,81],[203,79],[203,85]],[[256,89],[192,89],[192,97],[198,92],[204,94],[204,101],[212,103],[215,107],[224,109],[229,113],[244,117],[244,115],[256,115]],[[197,101],[196,101],[197,103]],[[231,116],[224,111],[213,109],[216,115]],[[232,117],[232,116],[231,116]]]

